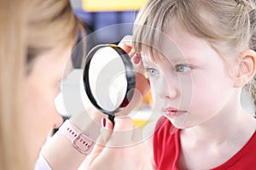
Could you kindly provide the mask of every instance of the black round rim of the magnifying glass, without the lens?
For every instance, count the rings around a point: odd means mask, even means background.
[[[121,57],[125,65],[125,72],[126,72],[125,77],[127,80],[127,88],[125,92],[125,98],[123,99],[122,103],[117,107],[117,109],[114,111],[106,111],[102,109],[102,107],[97,104],[96,99],[93,97],[93,94],[91,93],[91,90],[90,90],[90,82],[89,82],[90,61],[94,56],[94,54],[96,54],[96,51],[98,49],[106,48],[106,47],[113,48],[119,54],[119,56]],[[90,52],[87,54],[85,59],[83,79],[84,79],[84,90],[88,98],[90,99],[90,102],[92,103],[92,105],[94,105],[99,111],[102,111],[103,113],[110,116],[113,116],[116,111],[119,111],[122,108],[121,105],[124,105],[124,103],[127,103],[127,102],[129,103],[129,100],[132,98],[134,94],[134,88],[136,85],[135,71],[131,63],[130,56],[126,54],[126,52],[122,48],[119,48],[117,45],[114,45],[114,44],[100,44],[90,50]],[[130,93],[129,96],[128,96],[128,92]]]

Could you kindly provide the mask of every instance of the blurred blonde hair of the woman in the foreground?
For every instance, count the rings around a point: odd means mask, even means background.
[[[79,21],[68,0],[0,0],[0,17],[0,169],[33,169],[26,132],[20,132],[26,114],[20,89],[32,59],[75,42]]]

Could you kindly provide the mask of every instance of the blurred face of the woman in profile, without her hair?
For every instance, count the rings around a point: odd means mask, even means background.
[[[41,54],[32,61],[32,71],[25,79],[23,130],[34,162],[51,130],[59,127],[63,121],[55,109],[55,97],[60,93],[60,83],[71,49],[62,44]]]

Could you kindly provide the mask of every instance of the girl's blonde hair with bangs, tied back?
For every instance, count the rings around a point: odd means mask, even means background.
[[[182,26],[195,37],[205,39],[220,56],[235,60],[242,48],[256,51],[256,9],[252,0],[149,0],[137,15],[133,47],[143,47],[155,59],[155,49],[171,24]],[[256,105],[256,84],[248,87]]]

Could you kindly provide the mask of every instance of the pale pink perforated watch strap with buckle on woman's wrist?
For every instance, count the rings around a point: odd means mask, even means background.
[[[71,141],[73,147],[84,155],[90,154],[95,144],[87,133],[82,132],[79,127],[66,120],[60,127],[60,132]]]

